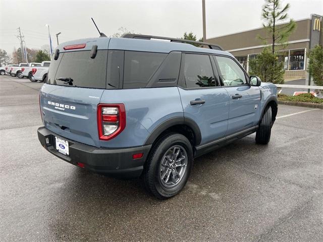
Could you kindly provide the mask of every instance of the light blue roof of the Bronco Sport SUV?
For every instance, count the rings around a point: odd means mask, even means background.
[[[72,40],[60,44],[60,52],[66,52],[71,50],[64,50],[64,46],[86,44],[83,48],[73,49],[77,50],[91,50],[93,45],[97,45],[97,49],[119,49],[119,50],[133,50],[133,51],[148,51],[148,52],[161,52],[169,53],[171,51],[192,51],[192,52],[204,52],[225,54],[232,56],[231,53],[222,50],[199,48],[192,44],[176,43],[165,40],[147,40],[147,39],[132,39],[132,38],[86,38]],[[109,46],[109,47],[108,47]]]

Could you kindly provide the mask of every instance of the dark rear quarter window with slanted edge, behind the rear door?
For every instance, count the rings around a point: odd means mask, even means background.
[[[125,51],[123,88],[143,88],[167,54]]]

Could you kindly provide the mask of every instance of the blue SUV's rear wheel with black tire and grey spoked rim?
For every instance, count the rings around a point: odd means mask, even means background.
[[[172,151],[172,148],[174,152]],[[179,150],[178,154],[175,152],[176,149]],[[181,155],[181,158],[186,156],[186,160],[178,158],[179,155]],[[168,158],[172,156],[172,158],[166,159],[166,156]],[[178,161],[175,161],[177,158]],[[172,163],[169,162],[169,160],[171,160]],[[161,164],[163,161],[166,161],[165,163],[169,162],[168,167],[165,167],[165,164]],[[167,134],[161,137],[151,148],[150,155],[147,158],[143,171],[145,187],[158,199],[174,197],[187,183],[192,166],[193,149],[188,139],[181,134]],[[165,177],[165,174],[168,174],[168,177]],[[177,176],[176,180],[175,176]],[[165,177],[169,183],[172,183],[169,187],[167,187],[167,181],[165,182],[166,179],[163,179],[163,177]]]

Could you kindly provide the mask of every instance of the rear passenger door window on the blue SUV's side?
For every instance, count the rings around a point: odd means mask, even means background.
[[[210,58],[205,54],[185,54],[184,78],[187,88],[217,85]]]

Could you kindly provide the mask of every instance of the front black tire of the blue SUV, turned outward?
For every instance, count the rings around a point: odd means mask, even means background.
[[[272,107],[266,107],[256,132],[256,143],[266,145],[271,140]]]

